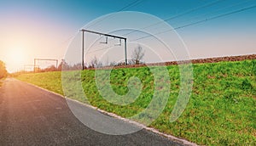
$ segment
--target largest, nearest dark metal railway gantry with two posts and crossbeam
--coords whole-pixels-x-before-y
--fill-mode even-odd
[[[84,70],[84,32],[89,32],[89,33],[94,33],[100,36],[106,36],[106,43],[108,43],[108,36],[113,37],[113,38],[119,38],[120,40],[125,40],[125,65],[128,65],[128,60],[127,60],[127,46],[126,46],[126,38],[122,36],[113,36],[110,34],[102,33],[102,32],[96,32],[96,31],[89,31],[89,30],[80,30],[83,33],[83,40],[82,40],[82,65],[83,65],[83,70]]]

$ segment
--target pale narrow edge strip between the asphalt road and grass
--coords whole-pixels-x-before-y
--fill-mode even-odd
[[[17,81],[20,81],[20,80],[18,80],[18,79],[16,79],[16,78],[13,78],[13,79],[15,79],[15,80],[17,80]],[[22,81],[22,82],[24,82],[24,83],[26,83],[26,84],[29,84],[29,85],[31,85],[31,86],[33,86],[33,87],[38,87],[37,85],[34,85],[34,84],[30,83],[30,82],[26,82],[26,81]],[[109,115],[109,116],[112,116],[113,118],[117,118],[117,119],[119,119],[119,120],[122,120],[122,121],[125,121],[125,122],[128,122],[128,123],[134,124],[134,125],[139,126],[139,127],[142,127],[143,129],[145,129],[145,130],[147,130],[147,131],[149,131],[149,132],[154,132],[154,133],[156,133],[156,134],[158,134],[158,135],[160,135],[160,136],[162,136],[162,137],[168,138],[168,139],[170,139],[170,140],[172,140],[172,141],[174,141],[174,142],[181,143],[181,144],[183,144],[183,145],[197,146],[196,143],[189,142],[188,140],[185,140],[185,139],[182,139],[182,138],[176,138],[176,137],[174,137],[174,136],[172,136],[172,135],[170,135],[170,134],[166,134],[166,133],[164,133],[164,132],[160,132],[160,131],[158,131],[157,129],[154,129],[153,127],[144,126],[143,124],[138,123],[137,121],[131,121],[131,120],[129,120],[129,119],[126,119],[126,118],[124,118],[124,117],[121,117],[121,116],[116,115],[116,114],[113,114],[113,113],[110,113],[110,112],[108,112],[108,111],[100,110],[100,109],[98,109],[98,108],[95,107],[95,106],[92,106],[92,105],[89,105],[89,104],[84,104],[84,103],[80,102],[79,100],[76,100],[76,99],[73,99],[73,98],[67,98],[67,97],[61,95],[60,93],[55,93],[55,92],[50,91],[50,90],[48,90],[48,89],[45,89],[45,88],[43,88],[43,87],[38,87],[38,88],[41,89],[41,90],[44,90],[45,92],[53,93],[53,94],[55,94],[56,96],[59,96],[59,97],[61,97],[61,98],[65,98],[66,100],[71,100],[71,101],[73,101],[73,102],[76,102],[77,104],[84,105],[84,106],[86,106],[86,107],[88,107],[88,108],[90,108],[90,109],[97,110],[98,112],[101,112],[101,113],[104,114],[104,115]]]

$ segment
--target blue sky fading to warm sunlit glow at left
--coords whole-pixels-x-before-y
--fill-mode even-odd
[[[143,24],[146,24],[144,22],[147,22],[146,16],[145,20],[142,19],[143,17],[137,20],[127,17],[127,21],[117,21],[117,18],[112,16],[95,25],[91,23],[93,20],[96,22],[96,19],[103,15],[119,11],[150,14],[157,19],[167,20],[167,25],[171,25],[172,28],[206,20],[197,25],[175,30],[185,44],[190,59],[252,54],[256,53],[256,8],[242,10],[218,19],[211,20],[211,18],[255,5],[255,0],[0,0],[0,60],[5,62],[9,72],[24,70],[24,65],[33,65],[34,59],[61,61],[65,59],[67,50],[71,49],[71,44],[80,45],[76,38],[78,37],[79,40],[79,30],[84,28],[84,25],[92,24],[92,26],[87,25],[90,26],[88,29],[91,31],[107,33],[111,31],[110,28],[114,29],[113,26],[127,25],[125,23],[129,22],[129,19],[130,22],[136,21],[134,23],[142,28]],[[111,19],[117,23],[111,24]],[[147,23],[149,24],[149,21]],[[155,25],[151,30],[157,33],[160,29],[160,25]],[[116,33],[113,31],[113,35],[124,34],[125,31]],[[143,36],[134,33],[127,36],[127,39],[129,41],[139,35]],[[98,39],[92,35],[90,37]],[[87,39],[87,43],[88,40],[93,39]],[[147,48],[148,44],[143,42],[144,48]],[[151,44],[151,48],[152,45],[154,44]],[[136,44],[131,44],[128,49],[132,50],[135,46]],[[155,46],[153,48],[154,52],[160,52],[160,48]],[[150,54],[150,51],[146,50],[145,53]],[[108,58],[112,58],[112,55],[113,53],[109,53]],[[123,53],[121,57],[124,58]],[[131,51],[128,57],[131,57]],[[92,56],[89,58],[91,59]],[[146,58],[146,61],[150,61],[151,57]]]

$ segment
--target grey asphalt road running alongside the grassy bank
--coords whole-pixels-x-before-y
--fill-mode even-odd
[[[96,132],[73,115],[65,98],[9,78],[0,87],[0,145],[180,144],[147,130],[117,136]]]

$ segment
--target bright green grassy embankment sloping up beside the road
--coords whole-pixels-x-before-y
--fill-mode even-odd
[[[193,67],[194,83],[189,104],[174,122],[169,118],[179,93],[179,70],[177,65],[167,67],[171,76],[170,98],[150,126],[198,144],[256,145],[256,60],[196,64]],[[78,74],[76,71],[70,73]],[[154,76],[147,67],[112,70],[110,82],[113,91],[121,95],[127,93],[127,81],[131,76],[137,76],[143,87],[137,100],[128,105],[110,104],[102,98],[96,88],[95,70],[84,70],[81,79],[90,104],[130,117],[146,108],[154,93]],[[17,78],[63,94],[61,72],[26,74]],[[76,85],[72,86],[76,88]],[[68,97],[75,97],[72,96],[76,94],[72,93],[75,90],[70,91]]]

